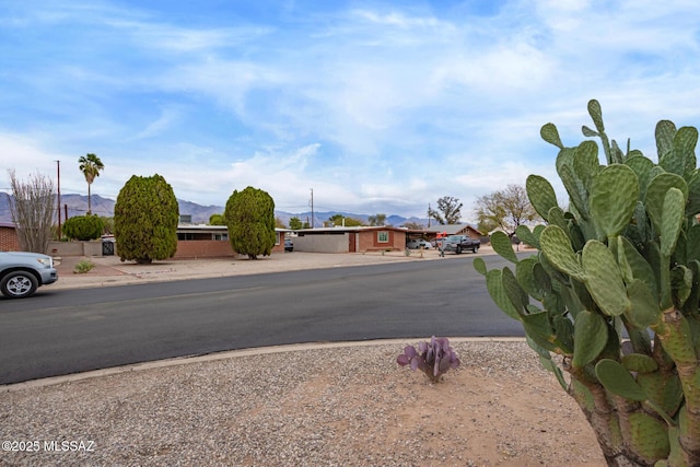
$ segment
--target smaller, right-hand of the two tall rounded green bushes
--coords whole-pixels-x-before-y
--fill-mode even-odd
[[[275,246],[275,201],[261,189],[247,187],[233,191],[224,219],[234,252],[257,259],[268,256]]]

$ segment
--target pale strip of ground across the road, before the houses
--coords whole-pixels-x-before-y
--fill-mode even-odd
[[[295,271],[351,266],[378,265],[399,261],[451,260],[493,254],[490,246],[482,246],[478,254],[446,254],[429,249],[419,252],[371,252],[371,253],[273,253],[271,256],[252,260],[246,256],[206,259],[168,259],[139,265],[121,262],[118,256],[62,257],[56,258],[58,282],[46,285],[51,289],[82,289],[93,287],[126,285],[186,279],[205,279],[242,275]],[[77,273],[80,261],[90,261],[94,267],[86,273]]]

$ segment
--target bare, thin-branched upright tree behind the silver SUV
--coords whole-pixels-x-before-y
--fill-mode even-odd
[[[54,182],[39,174],[19,180],[10,170],[13,199],[10,202],[12,221],[16,226],[20,248],[24,252],[46,253],[54,225]]]

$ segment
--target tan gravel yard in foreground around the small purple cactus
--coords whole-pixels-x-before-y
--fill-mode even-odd
[[[440,384],[396,363],[405,343],[417,342],[237,351],[4,387],[0,440],[37,451],[3,444],[0,465],[605,465],[523,341],[453,341],[463,364]]]

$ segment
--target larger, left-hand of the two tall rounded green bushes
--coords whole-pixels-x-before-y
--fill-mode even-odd
[[[133,175],[114,207],[119,258],[138,262],[171,258],[177,252],[179,209],[173,188],[161,175]]]

